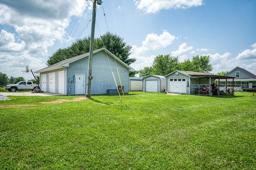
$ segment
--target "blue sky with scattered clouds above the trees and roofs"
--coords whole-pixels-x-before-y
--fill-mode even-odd
[[[92,0],[0,0],[0,72],[33,78],[58,49],[91,34]],[[158,55],[210,55],[212,74],[236,66],[256,74],[255,0],[102,0],[95,37],[131,45],[135,70]]]

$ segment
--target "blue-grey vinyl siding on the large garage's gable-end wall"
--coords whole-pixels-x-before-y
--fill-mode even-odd
[[[108,62],[109,61],[109,62]],[[111,65],[111,67],[110,67]],[[122,86],[124,86],[124,94],[128,94],[128,78],[129,69],[125,68],[118,61],[115,62],[114,58],[106,56],[104,51],[95,53],[92,57],[92,81],[91,81],[91,94],[107,94],[108,89],[116,89],[116,84],[112,71],[114,73],[117,86],[120,85],[119,77],[117,74],[116,65],[120,74]],[[88,74],[88,57],[75,61],[69,64],[67,68],[67,80],[73,78],[75,74],[84,74],[84,88],[87,91],[87,74]],[[71,82],[71,95],[75,94],[75,82]],[[67,87],[69,82],[67,81]]]

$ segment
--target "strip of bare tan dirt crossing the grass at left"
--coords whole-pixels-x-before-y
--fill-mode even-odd
[[[47,102],[39,102],[38,104],[2,105],[2,106],[0,106],[0,108],[32,107],[32,106],[39,106],[40,104],[59,104],[59,103],[64,103],[64,102],[79,102],[79,101],[86,100],[86,99],[88,99],[88,98],[86,98],[86,97],[78,97],[78,98],[74,98],[72,100],[58,99],[58,100],[47,101]]]

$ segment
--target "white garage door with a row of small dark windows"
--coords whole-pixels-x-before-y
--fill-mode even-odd
[[[185,93],[187,92],[187,81],[185,78],[171,78],[169,80],[169,92]]]

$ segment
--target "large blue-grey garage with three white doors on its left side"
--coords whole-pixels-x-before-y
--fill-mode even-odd
[[[36,71],[40,74],[42,91],[64,95],[86,94],[88,57],[89,53],[86,53]],[[124,87],[124,94],[128,94],[129,71],[134,69],[105,48],[93,51],[91,94],[108,94],[107,90],[115,90],[113,74],[117,86],[120,86],[116,67]]]

